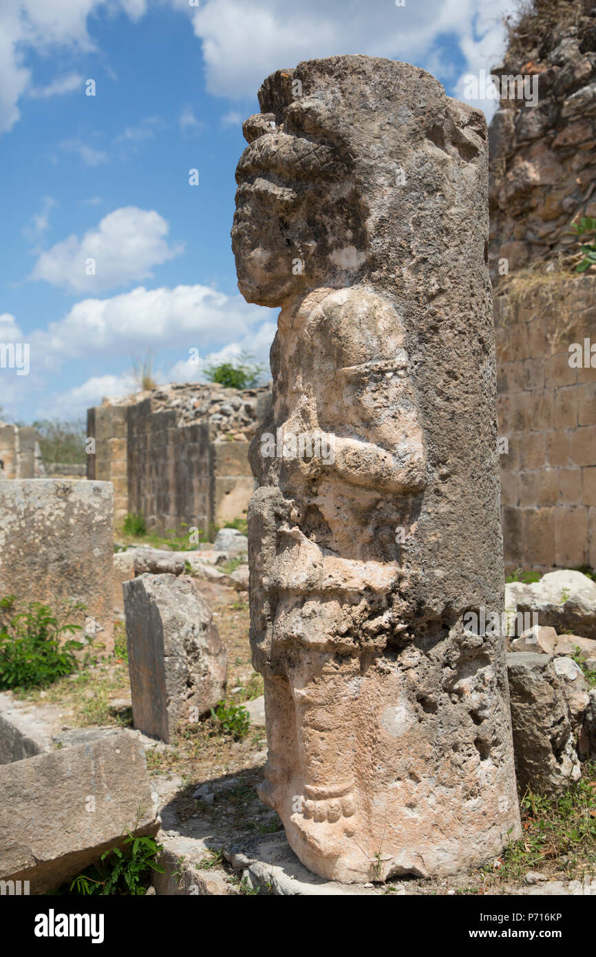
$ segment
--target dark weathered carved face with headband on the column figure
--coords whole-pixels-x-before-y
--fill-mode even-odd
[[[347,148],[328,139],[320,103],[296,100],[244,123],[232,249],[246,300],[276,306],[321,284],[354,281],[364,227]],[[336,137],[337,140],[337,137]]]

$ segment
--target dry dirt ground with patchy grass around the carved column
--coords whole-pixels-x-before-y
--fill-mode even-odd
[[[241,704],[262,694],[262,679],[251,664],[248,594],[216,582],[200,582],[228,652],[226,701]],[[114,655],[96,657],[76,674],[45,691],[18,697],[58,706],[63,729],[86,725],[132,727],[130,685],[123,624],[116,626]],[[207,718],[188,724],[170,745],[147,748],[147,768],[167,805],[169,818],[183,829],[216,834],[224,842],[247,833],[271,834],[281,829],[275,812],[256,795],[266,759],[264,728],[251,727],[234,740],[219,722]],[[214,801],[193,797],[208,783]],[[559,802],[520,795],[524,836],[504,854],[468,875],[453,879],[391,881],[380,893],[408,886],[416,894],[516,893],[525,875],[539,872],[550,880],[569,881],[596,872],[596,768],[584,769],[579,786]],[[173,816],[172,816],[173,815]],[[204,867],[221,867],[221,856],[207,854]],[[403,892],[403,891],[402,891]]]

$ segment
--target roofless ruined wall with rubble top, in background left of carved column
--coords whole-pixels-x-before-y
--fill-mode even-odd
[[[87,475],[114,483],[116,525],[130,512],[162,533],[207,531],[242,515],[254,491],[248,446],[270,400],[267,386],[187,383],[90,409]]]

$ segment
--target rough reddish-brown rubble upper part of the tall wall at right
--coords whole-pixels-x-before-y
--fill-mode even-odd
[[[538,80],[538,101],[500,100],[490,126],[491,265],[509,271],[578,250],[569,225],[596,216],[596,7],[546,33],[533,50],[510,47],[492,73]],[[530,88],[531,89],[531,88]]]

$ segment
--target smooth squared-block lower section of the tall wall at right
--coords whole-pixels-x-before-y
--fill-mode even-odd
[[[505,570],[596,567],[596,277],[513,280],[495,298]],[[591,337],[591,339],[590,339]]]

